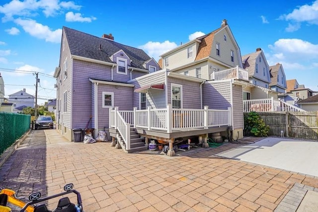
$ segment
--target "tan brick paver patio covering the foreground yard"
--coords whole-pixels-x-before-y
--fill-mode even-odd
[[[318,188],[314,176],[216,156],[239,145],[196,148],[175,157],[127,154],[108,142],[74,143],[55,130],[35,130],[0,168],[0,185],[27,197],[36,191],[53,195],[74,183],[87,212],[266,212],[282,200],[280,210],[300,202],[299,190],[291,190],[295,183],[302,190]],[[49,201],[51,209],[56,203]]]

